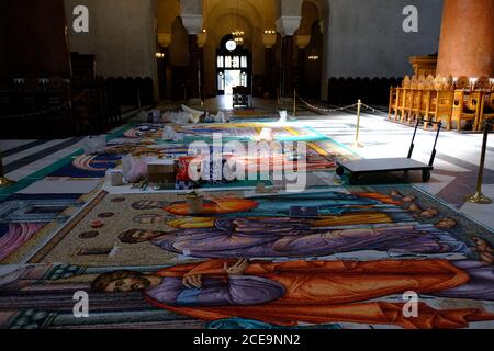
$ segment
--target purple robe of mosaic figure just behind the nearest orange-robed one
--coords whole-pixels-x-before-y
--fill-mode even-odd
[[[169,252],[210,258],[300,258],[375,250],[394,254],[471,253],[431,225],[329,230],[290,218],[217,219],[214,228],[184,229],[153,241]]]

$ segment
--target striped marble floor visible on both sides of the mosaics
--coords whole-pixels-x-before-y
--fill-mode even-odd
[[[276,113],[276,101],[255,99],[252,105],[262,114]],[[228,109],[229,103],[226,98],[210,99],[205,101],[204,106],[211,110]],[[413,128],[389,122],[380,112],[363,113],[360,143],[364,147],[353,148],[357,123],[355,111],[315,115],[301,109],[296,118],[352,148],[363,158],[405,157],[413,134]],[[435,133],[419,131],[414,159],[428,162],[434,139]],[[422,183],[420,174],[397,174],[397,177],[406,177],[406,181],[416,183],[420,189],[460,208],[476,222],[494,228],[494,205],[474,205],[464,201],[467,195],[475,191],[481,144],[481,134],[444,132],[437,145],[436,169],[429,183]],[[80,149],[81,138],[0,140],[0,148],[3,152],[7,177],[21,180]],[[372,182],[374,179],[367,181]],[[494,137],[489,140],[483,192],[494,199]]]

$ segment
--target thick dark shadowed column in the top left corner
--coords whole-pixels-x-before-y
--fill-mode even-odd
[[[0,3],[0,77],[69,77],[64,0]]]

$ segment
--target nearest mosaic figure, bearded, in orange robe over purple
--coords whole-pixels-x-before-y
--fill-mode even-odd
[[[494,299],[493,268],[476,261],[205,261],[150,274],[115,271],[100,275],[94,291],[143,291],[153,306],[202,320],[231,317],[274,325],[360,322],[404,328],[465,328],[494,320],[479,308],[438,309],[419,304],[406,318],[403,303],[386,297],[420,295]]]

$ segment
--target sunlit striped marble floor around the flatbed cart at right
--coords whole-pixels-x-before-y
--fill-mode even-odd
[[[300,120],[314,126],[333,139],[352,148],[363,158],[406,157],[413,136],[413,128],[388,121],[379,114],[363,114],[361,118],[360,143],[355,148],[356,122],[353,113],[334,113],[327,116],[300,116]],[[435,133],[419,131],[417,134],[414,159],[428,162],[433,150]],[[435,171],[428,183],[422,183],[420,173],[408,176],[406,180],[428,193],[437,195],[447,203],[460,208],[473,219],[494,228],[494,205],[474,205],[464,197],[475,192],[479,174],[481,134],[459,134],[444,132],[439,136]],[[494,137],[489,139],[484,170],[483,193],[494,199]]]

